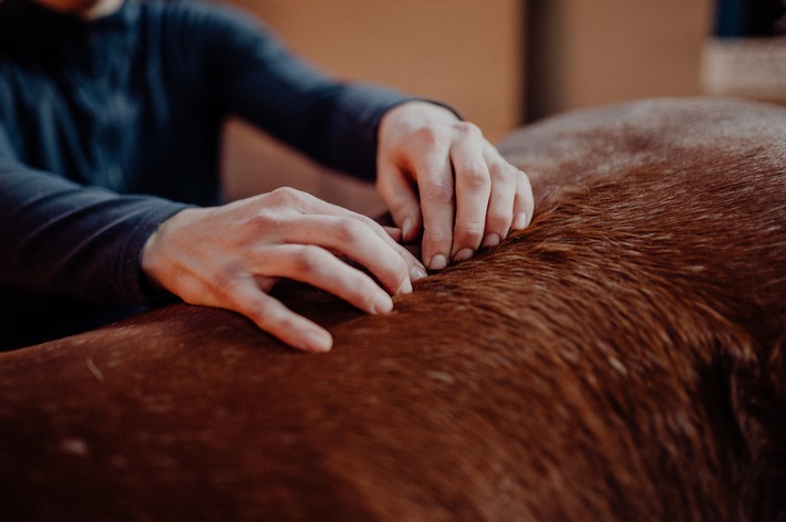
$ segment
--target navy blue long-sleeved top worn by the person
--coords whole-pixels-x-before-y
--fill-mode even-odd
[[[372,178],[379,121],[404,100],[328,79],[227,8],[127,0],[84,22],[3,0],[0,348],[156,297],[141,250],[184,206],[219,202],[227,116]]]

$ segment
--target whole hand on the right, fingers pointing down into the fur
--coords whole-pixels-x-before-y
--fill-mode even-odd
[[[423,231],[428,269],[494,247],[532,217],[527,175],[445,107],[406,102],[390,109],[380,123],[376,163],[378,191],[404,241]]]

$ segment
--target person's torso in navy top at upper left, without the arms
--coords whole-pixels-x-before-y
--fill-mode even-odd
[[[9,11],[0,123],[15,159],[117,192],[216,201],[221,115],[161,6],[128,3],[90,24],[33,4]]]

